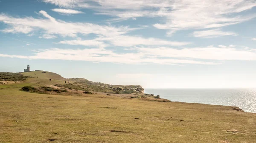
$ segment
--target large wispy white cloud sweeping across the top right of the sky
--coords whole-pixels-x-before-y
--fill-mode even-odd
[[[256,6],[255,0],[44,0],[61,7],[91,8],[96,14],[111,15],[113,20],[161,17],[154,24],[159,29],[219,28],[256,17],[240,12]],[[168,34],[167,34],[168,35]]]

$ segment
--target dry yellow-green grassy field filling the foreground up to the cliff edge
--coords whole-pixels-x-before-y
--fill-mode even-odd
[[[24,73],[32,76],[34,73]],[[143,101],[105,93],[37,94],[49,73],[0,85],[0,143],[255,143],[256,114],[232,107]],[[49,78],[56,78],[49,81]],[[48,81],[47,81],[48,79]]]

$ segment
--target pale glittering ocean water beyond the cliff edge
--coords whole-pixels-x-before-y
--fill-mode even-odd
[[[236,106],[256,113],[256,89],[145,89],[171,101]]]

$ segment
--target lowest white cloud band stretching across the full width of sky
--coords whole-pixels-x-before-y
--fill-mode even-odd
[[[256,61],[256,49],[216,48],[136,48],[133,53],[116,53],[104,48],[60,49],[34,51],[34,56],[6,55],[23,59],[59,59],[120,64],[221,64],[224,60]]]

